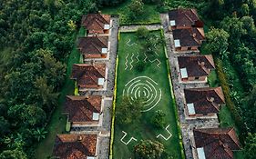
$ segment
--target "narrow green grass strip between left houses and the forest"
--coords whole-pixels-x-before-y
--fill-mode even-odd
[[[81,33],[81,31],[79,33]],[[66,95],[74,94],[75,82],[73,80],[70,80],[69,77],[71,75],[72,65],[79,63],[79,59],[80,59],[80,54],[77,51],[76,45],[74,45],[74,48],[71,54],[69,55],[68,61],[67,61],[66,82],[60,93],[60,96],[58,99],[58,106],[56,107],[56,110],[52,114],[50,122],[46,127],[46,131],[48,132],[46,139],[42,140],[36,147],[36,156],[35,156],[36,159],[46,159],[48,156],[52,154],[56,134],[67,134],[66,132],[67,116],[61,114],[63,109],[62,106],[65,102]]]

